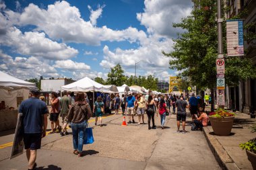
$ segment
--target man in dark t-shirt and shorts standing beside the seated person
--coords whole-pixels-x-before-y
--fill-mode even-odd
[[[180,133],[180,123],[182,121],[182,127],[183,127],[183,134],[186,133],[185,131],[185,122],[186,122],[186,108],[189,108],[189,105],[187,103],[187,101],[183,100],[183,96],[180,97],[180,99],[178,99],[176,101],[176,106],[177,106],[177,132]]]

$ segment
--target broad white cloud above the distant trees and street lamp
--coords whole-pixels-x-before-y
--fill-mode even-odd
[[[172,40],[166,39],[161,42],[156,37],[148,38],[150,43],[145,43],[137,49],[122,50],[116,48],[115,51],[110,51],[108,46],[104,46],[104,60],[100,65],[105,69],[114,67],[118,63],[124,69],[135,68],[135,62],[143,60],[137,64],[137,69],[155,70],[155,69],[168,69],[169,58],[162,54],[162,50],[168,52]]]

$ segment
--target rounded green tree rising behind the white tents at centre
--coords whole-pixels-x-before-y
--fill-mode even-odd
[[[117,64],[115,67],[111,67],[110,72],[108,73],[108,79],[106,79],[106,83],[108,85],[123,85],[123,83],[126,81],[126,77],[123,73],[124,71],[120,64]]]

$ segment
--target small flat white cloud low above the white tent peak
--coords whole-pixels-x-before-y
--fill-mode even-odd
[[[74,62],[73,60],[57,60],[54,67],[67,70],[90,70],[90,66],[84,62]]]

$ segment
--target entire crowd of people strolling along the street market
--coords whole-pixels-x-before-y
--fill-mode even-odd
[[[73,134],[73,153],[82,156],[84,136],[88,120],[95,114],[95,125],[100,121],[102,127],[102,114],[104,113],[104,102],[102,97],[97,97],[93,108],[90,108],[86,93],[78,92],[75,99],[71,97],[69,91],[63,91],[62,97],[56,92],[50,96],[50,111],[44,102],[44,97],[39,96],[40,91],[31,90],[31,97],[22,101],[19,112],[23,114],[24,122],[24,145],[28,158],[28,169],[36,167],[36,150],[41,146],[41,139],[46,135],[47,117],[51,121],[51,132],[60,132],[61,136],[67,135],[67,124],[71,126]],[[160,115],[160,127],[164,129],[166,116],[177,114],[177,132],[186,133],[185,122],[187,118],[186,108],[189,108],[192,121],[195,124],[195,130],[201,130],[207,126],[208,116],[204,109],[199,105],[200,100],[192,93],[189,102],[184,99],[183,94],[176,95],[154,95],[150,91],[145,94],[133,94],[131,91],[127,96],[119,94],[115,96],[114,110],[119,114],[122,108],[122,114],[128,116],[128,124],[135,124],[135,115],[138,118],[137,124],[145,124],[145,114],[148,116],[148,130],[156,129],[156,116]],[[171,111],[172,108],[172,111]],[[61,117],[62,127],[59,122]],[[182,130],[180,124],[182,122]],[[152,123],[152,124],[151,124]],[[152,126],[151,126],[152,125]]]

